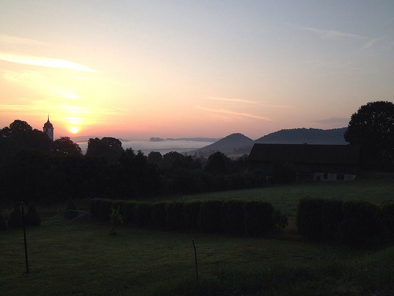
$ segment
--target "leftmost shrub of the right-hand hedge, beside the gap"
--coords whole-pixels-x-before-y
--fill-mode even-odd
[[[324,199],[300,198],[297,209],[297,227],[301,235],[308,239],[320,239],[323,231],[322,212]]]

